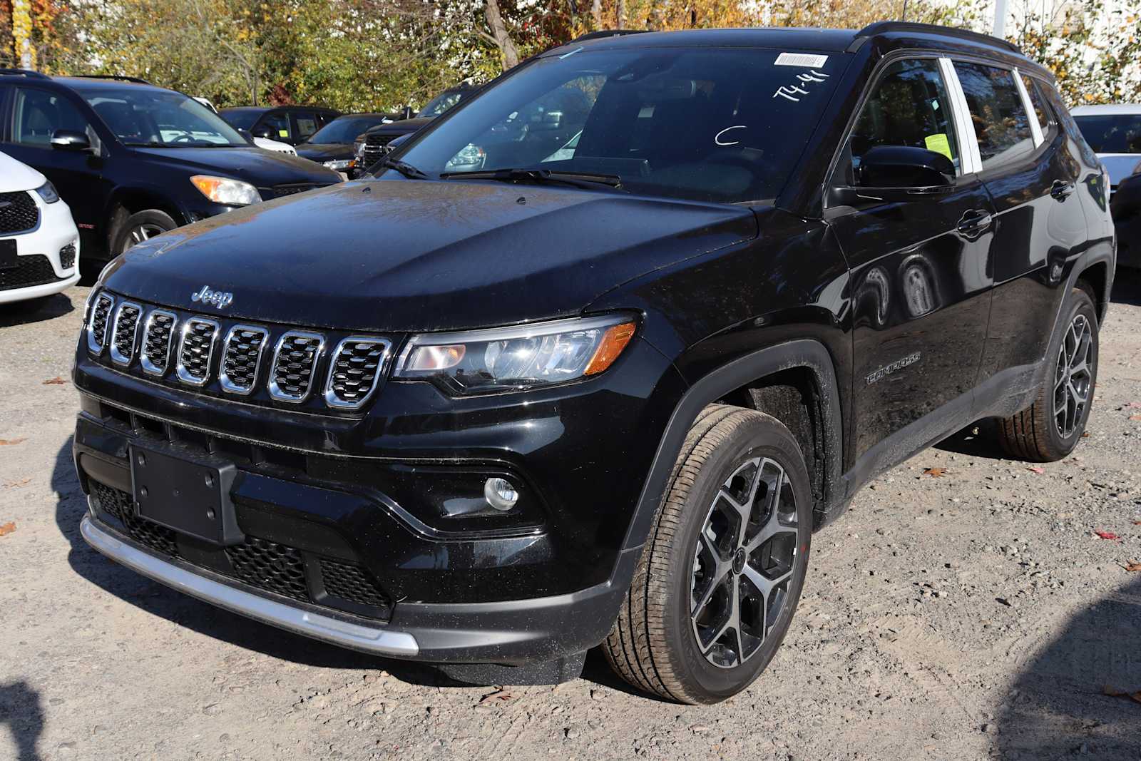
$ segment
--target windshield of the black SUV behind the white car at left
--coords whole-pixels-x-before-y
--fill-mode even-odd
[[[194,98],[171,90],[76,88],[127,145],[237,146],[245,139]]]

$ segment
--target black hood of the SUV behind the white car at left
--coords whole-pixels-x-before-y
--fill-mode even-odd
[[[146,154],[155,162],[191,169],[195,173],[219,172],[257,187],[305,183],[324,185],[341,179],[337,172],[316,165],[307,159],[264,151],[252,145],[226,148],[132,148],[132,151]]]

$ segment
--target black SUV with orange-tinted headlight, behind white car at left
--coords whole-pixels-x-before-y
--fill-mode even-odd
[[[0,151],[56,186],[84,259],[341,179],[253,147],[193,98],[122,76],[0,70]]]

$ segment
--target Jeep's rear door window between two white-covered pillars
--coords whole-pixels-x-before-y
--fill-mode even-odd
[[[1030,120],[1014,74],[1005,68],[955,62],[966,107],[979,141],[982,170],[994,169],[1034,151]]]

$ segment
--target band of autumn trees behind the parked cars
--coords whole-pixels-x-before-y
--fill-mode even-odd
[[[22,0],[37,65],[143,76],[219,106],[422,105],[527,56],[606,29],[859,29],[903,0]],[[1023,3],[1019,6],[1018,3]],[[1071,104],[1141,100],[1141,0],[1012,0],[1009,31]],[[909,21],[986,31],[988,3],[908,0]],[[17,24],[19,23],[18,19]],[[18,64],[13,0],[0,0],[0,65]]]

